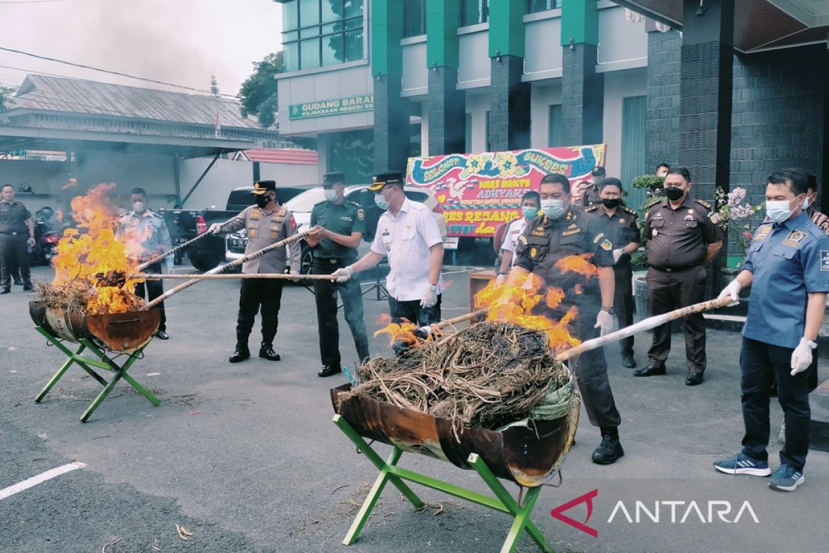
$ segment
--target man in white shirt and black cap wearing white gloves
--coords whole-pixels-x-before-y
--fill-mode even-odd
[[[395,323],[406,319],[420,326],[440,320],[440,295],[443,279],[444,241],[429,208],[411,201],[403,190],[403,175],[386,172],[375,175],[368,187],[375,202],[386,210],[377,221],[371,251],[355,263],[337,269],[337,282],[346,282],[355,273],[371,269],[389,258],[389,309]]]

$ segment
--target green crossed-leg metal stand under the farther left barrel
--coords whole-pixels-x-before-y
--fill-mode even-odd
[[[133,386],[133,388],[138,390],[138,392],[140,392],[141,395],[150,400],[150,402],[153,403],[153,405],[156,405],[158,407],[158,404],[160,402],[155,398],[155,396],[151,394],[149,390],[138,384],[138,382],[136,382],[132,376],[129,376],[127,374],[127,371],[129,371],[129,367],[133,366],[133,363],[135,361],[138,361],[138,356],[140,356],[141,352],[143,352],[143,347],[139,348],[136,352],[130,354],[127,359],[127,362],[125,362],[124,365],[119,366],[115,361],[107,357],[106,353],[101,351],[99,347],[95,346],[95,344],[93,344],[85,338],[80,339],[80,347],[78,348],[78,351],[72,352],[68,347],[65,347],[65,345],[59,338],[52,336],[51,333],[47,332],[46,329],[44,329],[43,327],[35,327],[35,330],[37,332],[40,332],[43,335],[43,337],[46,338],[46,340],[51,342],[53,346],[57,347],[59,350],[61,350],[61,352],[64,353],[66,357],[68,357],[66,362],[55,373],[55,376],[51,377],[51,379],[46,383],[46,386],[44,386],[43,390],[41,390],[41,393],[37,395],[37,397],[35,398],[35,403],[40,403],[41,400],[44,397],[46,397],[46,394],[49,393],[49,390],[52,389],[52,386],[55,386],[57,384],[57,381],[61,380],[61,376],[63,376],[66,370],[69,369],[70,366],[72,366],[72,363],[75,363],[78,366],[80,366],[80,368],[82,368],[84,371],[89,373],[89,375],[92,376],[96,381],[98,381],[101,386],[104,386],[104,390],[100,391],[95,400],[93,400],[92,403],[90,403],[90,406],[86,408],[84,414],[81,415],[80,422],[85,423],[86,420],[90,418],[90,415],[92,415],[92,413],[94,413],[95,410],[98,409],[98,405],[101,404],[101,401],[103,401],[106,398],[106,396],[109,395],[109,392],[112,391],[112,389],[115,387],[118,381],[122,378],[125,381],[127,381],[130,386]],[[97,359],[95,357],[87,357],[80,355],[82,352],[84,352],[84,350],[89,350],[90,352],[94,353]],[[92,370],[93,366],[99,369],[103,369],[104,371],[114,372],[115,376],[112,377],[111,381],[107,382],[106,380],[104,380],[104,377],[100,376],[97,372]]]

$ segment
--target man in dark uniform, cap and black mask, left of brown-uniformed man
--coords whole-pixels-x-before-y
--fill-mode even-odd
[[[630,255],[639,248],[639,226],[636,211],[621,205],[622,181],[607,177],[602,181],[599,191],[601,203],[589,207],[588,213],[599,217],[602,232],[613,244],[613,274],[616,287],[613,295],[613,311],[619,328],[633,324],[633,267]],[[628,368],[636,366],[633,361],[633,336],[623,338],[622,365]]]

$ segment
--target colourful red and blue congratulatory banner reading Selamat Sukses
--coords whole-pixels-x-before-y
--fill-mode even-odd
[[[521,216],[521,196],[537,191],[548,173],[565,174],[578,200],[593,167],[604,165],[605,148],[595,144],[409,158],[406,180],[434,190],[448,235],[492,237],[498,226]]]

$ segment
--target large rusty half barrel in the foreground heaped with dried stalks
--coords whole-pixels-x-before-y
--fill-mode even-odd
[[[478,454],[498,478],[526,488],[541,486],[555,473],[573,444],[579,424],[579,402],[570,415],[556,420],[534,420],[528,427],[513,426],[501,432],[463,428],[458,439],[452,421],[401,409],[366,397],[342,397],[351,385],[331,390],[334,411],[364,438],[411,453],[443,459],[459,468],[469,454]]]

